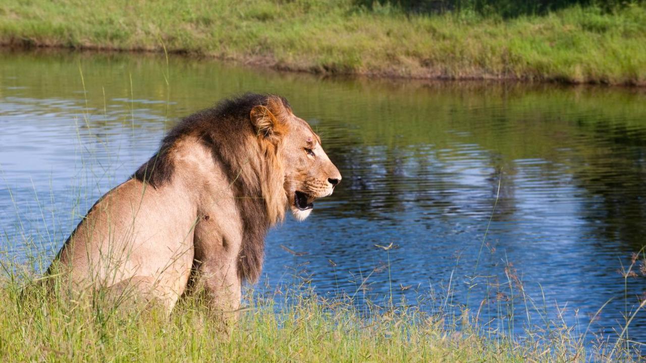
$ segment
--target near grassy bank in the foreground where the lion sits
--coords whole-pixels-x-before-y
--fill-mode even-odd
[[[62,291],[62,290],[61,290]],[[566,326],[509,338],[470,319],[406,304],[326,300],[296,290],[256,296],[230,333],[195,300],[160,309],[108,307],[101,295],[68,299],[31,279],[3,278],[3,362],[634,362],[622,345],[585,349]],[[368,310],[366,310],[368,309]]]

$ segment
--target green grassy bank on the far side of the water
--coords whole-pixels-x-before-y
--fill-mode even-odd
[[[646,85],[646,4],[503,19],[350,0],[7,0],[0,5],[0,43],[165,47],[307,72]]]

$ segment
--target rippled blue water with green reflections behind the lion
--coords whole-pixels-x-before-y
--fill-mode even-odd
[[[558,306],[585,329],[614,298],[591,329],[612,335],[623,322],[619,271],[646,244],[644,90],[324,79],[172,57],[5,51],[3,249],[19,260],[52,256],[178,118],[247,90],[286,96],[343,174],[306,222],[271,231],[269,285],[413,302],[450,291],[447,306],[466,303],[473,285],[469,305],[485,301],[492,329],[505,327],[496,310],[517,296],[519,331],[532,306],[507,270],[549,318]],[[630,311],[646,278],[628,289]],[[646,313],[632,327],[646,342]]]

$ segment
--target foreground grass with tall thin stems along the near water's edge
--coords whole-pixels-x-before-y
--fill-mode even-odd
[[[307,278],[293,276],[286,284],[245,291],[240,320],[225,327],[192,296],[167,315],[154,304],[130,304],[132,290],[121,296],[72,292],[59,276],[37,272],[49,264],[48,257],[15,261],[10,253],[0,257],[3,362],[632,363],[644,357],[643,344],[630,340],[635,329],[630,323],[646,299],[638,306],[631,302],[616,334],[596,335],[590,326],[565,323],[561,313],[567,304],[550,317],[545,301],[525,295],[511,266],[501,282],[509,295],[495,282],[489,286],[492,296],[479,306],[453,302],[450,284],[448,291],[418,290],[415,301],[395,301],[392,291],[390,297],[359,301],[356,293],[319,296]],[[645,265],[641,249],[621,273],[625,279],[646,276]],[[633,296],[625,298],[628,303]],[[525,304],[528,318],[537,313],[537,322],[516,318],[514,304]],[[497,313],[483,318],[481,311],[488,309]],[[514,324],[522,324],[524,332]]]

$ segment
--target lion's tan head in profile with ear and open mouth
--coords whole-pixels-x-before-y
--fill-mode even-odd
[[[283,200],[297,220],[304,220],[314,200],[331,195],[339,184],[339,169],[329,160],[318,135],[293,114],[284,99],[269,96],[266,105],[253,107],[250,116],[260,142],[276,154],[276,166],[284,176]]]

